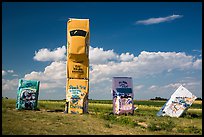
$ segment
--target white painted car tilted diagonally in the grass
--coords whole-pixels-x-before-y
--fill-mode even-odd
[[[196,98],[195,95],[181,85],[159,110],[157,116],[180,117]]]

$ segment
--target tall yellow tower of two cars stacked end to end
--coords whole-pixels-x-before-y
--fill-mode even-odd
[[[67,22],[67,82],[65,113],[88,112],[89,19]]]

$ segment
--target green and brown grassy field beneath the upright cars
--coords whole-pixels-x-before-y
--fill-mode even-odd
[[[2,99],[3,135],[202,135],[202,101],[179,118],[157,117],[166,101],[135,100],[134,115],[113,115],[111,100],[90,100],[88,114],[64,114],[65,101],[39,100],[38,110],[16,110]]]

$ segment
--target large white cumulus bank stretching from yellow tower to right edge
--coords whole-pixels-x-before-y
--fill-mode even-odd
[[[187,56],[181,52],[147,52],[142,51],[138,57],[131,57],[127,62],[114,53],[116,62],[107,62],[106,64],[92,64],[90,71],[90,80],[93,83],[110,80],[113,76],[132,76],[135,78],[146,75],[155,75],[164,71],[200,69],[199,60],[193,61],[192,56]],[[98,59],[99,60],[99,59]],[[97,61],[97,60],[95,60]],[[196,66],[196,67],[195,67]]]

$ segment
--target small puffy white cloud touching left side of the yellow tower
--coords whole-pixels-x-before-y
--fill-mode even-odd
[[[66,47],[62,46],[53,51],[50,51],[47,48],[40,49],[38,52],[35,52],[34,60],[37,61],[60,61],[66,59]]]

